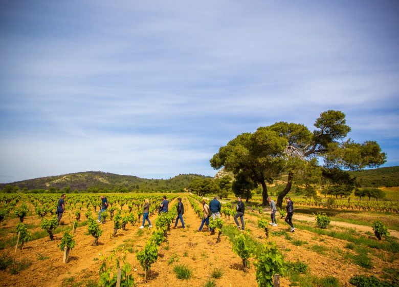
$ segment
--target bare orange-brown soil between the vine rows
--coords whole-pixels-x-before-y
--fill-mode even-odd
[[[173,202],[172,202],[173,203]],[[1,286],[61,286],[63,280],[74,277],[73,282],[82,282],[86,280],[98,281],[98,270],[101,265],[101,254],[109,256],[115,247],[124,245],[130,247],[134,252],[127,253],[127,260],[132,265],[133,276],[137,286],[203,286],[210,278],[211,272],[217,268],[223,271],[221,278],[216,279],[217,286],[227,287],[254,287],[257,286],[255,279],[255,268],[251,267],[249,272],[245,273],[242,269],[241,259],[232,251],[232,243],[227,236],[221,236],[221,242],[216,243],[217,235],[210,235],[207,228],[198,232],[201,219],[197,217],[190,206],[189,201],[184,197],[185,207],[184,221],[186,229],[182,229],[179,222],[178,228],[172,228],[168,232],[167,242],[163,242],[159,249],[159,258],[151,266],[148,274],[148,281],[144,282],[144,273],[136,260],[136,252],[141,250],[151,232],[148,227],[139,229],[140,223],[136,226],[128,224],[126,231],[118,231],[114,238],[110,238],[113,231],[113,221],[108,220],[102,224],[103,234],[100,237],[100,244],[97,247],[91,246],[93,238],[85,235],[87,227],[83,226],[76,230],[74,238],[76,247],[71,252],[70,262],[62,263],[63,252],[58,248],[62,234],[55,235],[55,240],[50,241],[49,237],[30,241],[25,244],[23,251],[14,252],[14,248],[8,248],[0,254],[9,253],[17,261],[32,261],[29,268],[21,271],[19,274],[11,275],[9,272],[0,271]],[[264,212],[263,217],[269,218],[269,212]],[[156,216],[151,216],[153,220]],[[375,251],[372,256],[374,268],[365,270],[356,264],[345,260],[338,250],[344,250],[348,243],[344,240],[331,238],[324,235],[317,235],[306,230],[296,229],[295,233],[290,233],[292,240],[287,240],[284,236],[274,236],[271,233],[269,239],[264,238],[264,231],[257,228],[258,215],[252,212],[246,212],[246,230],[251,232],[251,236],[257,238],[259,242],[267,240],[275,241],[285,255],[287,261],[296,261],[299,259],[309,265],[312,275],[323,277],[327,275],[339,279],[342,286],[350,285],[348,280],[353,275],[381,275],[381,267],[399,269],[397,258],[389,263],[380,259],[381,256],[374,256],[384,251]],[[295,215],[293,220],[300,219],[301,216]],[[223,218],[225,224],[234,224],[232,218],[228,220]],[[312,218],[308,218],[313,220]],[[17,220],[17,219],[15,219]],[[70,212],[64,215],[63,220],[66,223],[72,222],[73,215]],[[302,219],[301,219],[302,220]],[[14,222],[9,224],[16,224]],[[27,218],[28,223],[39,222],[37,216]],[[340,222],[343,223],[343,222]],[[349,224],[349,223],[345,223]],[[350,224],[353,226],[355,224]],[[2,227],[2,228],[6,228]],[[15,226],[15,225],[14,225]],[[363,226],[356,226],[356,229],[363,231]],[[287,224],[278,219],[278,226],[270,228],[271,231],[286,231]],[[262,237],[263,236],[263,237]],[[258,238],[259,237],[259,238]],[[294,240],[306,242],[300,246],[294,245]],[[324,254],[319,254],[312,250],[314,245],[322,245]],[[389,256],[389,254],[385,254]],[[44,258],[44,259],[43,259]],[[174,258],[174,260],[172,260]],[[173,262],[172,262],[173,261]],[[177,279],[173,272],[176,264],[185,264],[192,270],[192,277],[188,280]],[[290,281],[286,277],[281,278],[281,286],[289,286]],[[64,286],[68,284],[64,283]],[[72,283],[71,283],[72,285]],[[83,285],[84,286],[84,285]]]

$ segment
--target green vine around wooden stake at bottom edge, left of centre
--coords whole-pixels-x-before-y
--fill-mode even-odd
[[[126,253],[123,256],[123,264],[120,264],[120,258],[116,253],[108,258],[102,258],[102,264],[99,270],[100,280],[98,282],[101,287],[113,287],[117,283],[118,269],[121,269],[121,287],[131,287],[135,285],[135,280],[131,272],[131,265],[127,262]]]

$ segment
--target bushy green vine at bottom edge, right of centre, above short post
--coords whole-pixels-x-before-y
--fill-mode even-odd
[[[285,273],[285,262],[276,244],[263,245],[256,255],[256,281],[259,287],[273,287],[273,275]]]

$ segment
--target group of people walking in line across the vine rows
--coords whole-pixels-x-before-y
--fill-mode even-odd
[[[101,210],[98,213],[98,222],[101,222],[101,213],[106,211],[108,208],[108,200],[105,196],[101,196]],[[162,202],[159,205],[159,210],[158,212],[169,212],[169,201],[166,199],[166,196],[164,195],[162,198]],[[272,219],[272,222],[269,224],[271,226],[277,226],[277,220],[276,220],[276,203],[274,202],[273,199],[268,197],[268,202],[270,203],[270,217]],[[239,230],[244,230],[245,229],[245,221],[244,221],[244,213],[245,213],[245,204],[242,202],[241,197],[237,197],[237,205],[236,205],[236,214],[234,215],[234,222],[237,224],[237,228]],[[287,222],[291,226],[291,232],[294,232],[295,227],[292,224],[292,216],[294,214],[294,202],[291,200],[290,197],[285,197],[285,202],[287,203],[286,210],[287,214],[285,216],[285,222]],[[219,197],[215,196],[210,202],[209,205],[206,203],[205,200],[202,200],[202,206],[203,206],[203,219],[201,222],[201,226],[198,229],[198,231],[202,231],[204,224],[207,223],[209,226],[209,217],[212,216],[213,219],[220,218],[220,210],[221,210],[221,204],[219,201]],[[143,206],[143,224],[140,226],[140,228],[144,228],[145,221],[148,221],[148,227],[151,228],[151,222],[149,220],[149,207],[150,203],[148,199],[145,199],[144,201],[144,206]],[[56,214],[58,215],[58,224],[62,218],[62,214],[65,213],[65,194],[61,195],[61,198],[58,200],[58,207]],[[182,227],[183,229],[186,229],[184,225],[184,220],[183,220],[183,214],[184,214],[184,205],[182,203],[182,198],[178,198],[178,215],[175,219],[174,223],[174,228],[178,226],[179,219],[182,222]],[[240,222],[238,222],[238,218],[240,218]],[[240,225],[241,223],[241,225]],[[212,231],[211,228],[209,228],[209,231]]]

